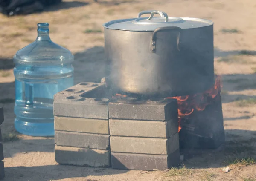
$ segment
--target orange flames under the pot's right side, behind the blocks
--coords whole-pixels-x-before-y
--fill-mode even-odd
[[[168,97],[167,99],[177,99],[178,101],[178,118],[179,118],[179,130],[181,129],[181,119],[185,116],[191,115],[195,110],[203,111],[205,107],[211,104],[212,100],[221,91],[221,76],[216,75],[215,84],[211,89],[198,93],[195,95],[186,95],[178,97]]]

